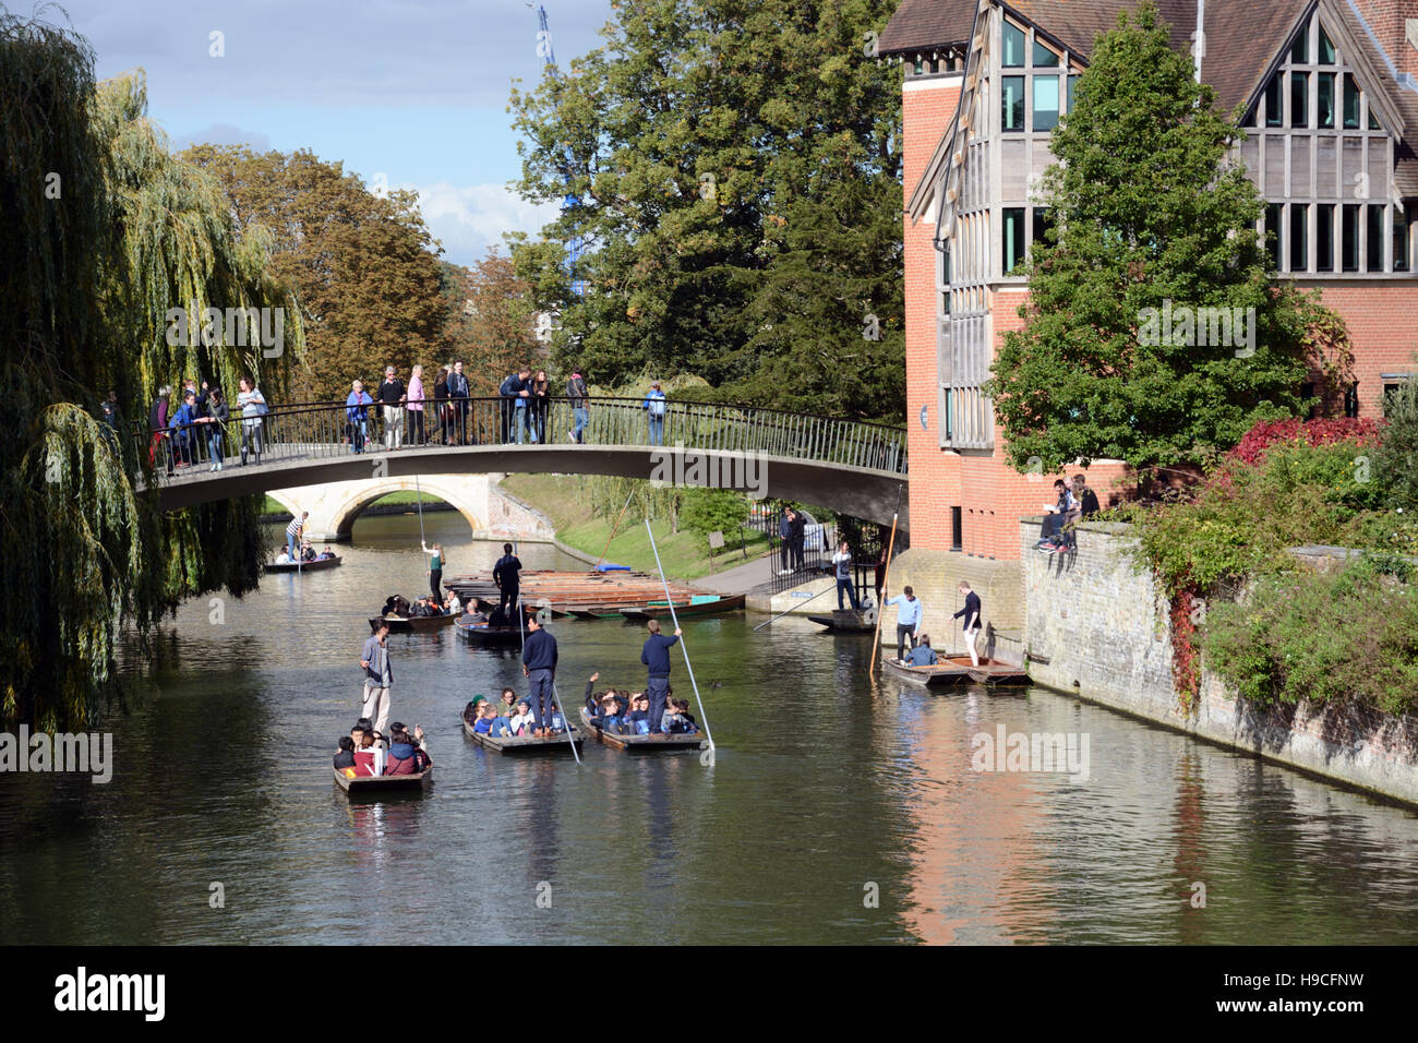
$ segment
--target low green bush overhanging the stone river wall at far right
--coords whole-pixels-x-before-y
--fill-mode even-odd
[[[1418,705],[1418,587],[1411,569],[1366,558],[1341,572],[1262,579],[1244,603],[1217,605],[1208,666],[1258,705]]]

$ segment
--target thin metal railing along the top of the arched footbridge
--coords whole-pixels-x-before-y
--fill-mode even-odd
[[[268,464],[372,453],[396,441],[404,447],[569,444],[577,429],[586,444],[683,446],[906,473],[906,431],[886,424],[672,399],[664,400],[664,416],[654,416],[644,399],[593,397],[584,414],[571,399],[530,400],[525,407],[516,402],[428,400],[421,419],[418,410],[403,409],[397,427],[386,424],[379,403],[353,410],[343,402],[298,403],[261,417],[233,416],[225,423],[139,431],[138,437],[159,470],[177,475],[242,454],[247,463]]]

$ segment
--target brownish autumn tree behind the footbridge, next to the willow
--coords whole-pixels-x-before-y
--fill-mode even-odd
[[[298,399],[343,400],[353,380],[377,382],[386,365],[407,379],[415,362],[444,353],[440,247],[415,193],[376,194],[308,150],[194,145],[183,158],[221,182],[238,227],[275,237],[272,272],[296,287],[306,321]]]

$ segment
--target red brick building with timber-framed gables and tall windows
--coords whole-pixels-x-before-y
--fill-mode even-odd
[[[1017,265],[1046,221],[1034,186],[1052,162],[1049,132],[1096,37],[1136,6],[902,0],[879,40],[905,71],[912,549],[892,587],[917,576],[930,607],[967,578],[1005,634],[1021,619],[1018,518],[1041,512],[1058,475],[1004,461],[980,386],[1021,324]],[[1320,288],[1349,325],[1341,407],[1381,416],[1385,389],[1418,373],[1418,0],[1157,6],[1222,111],[1245,108],[1238,158],[1266,200],[1276,271]],[[1105,504],[1123,473],[1117,461],[1089,470]]]

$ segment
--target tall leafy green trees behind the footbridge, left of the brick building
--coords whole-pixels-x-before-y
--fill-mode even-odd
[[[899,81],[864,47],[893,7],[615,4],[605,47],[513,91],[522,194],[579,200],[513,243],[560,314],[554,358],[603,385],[689,372],[718,397],[899,419]]]

